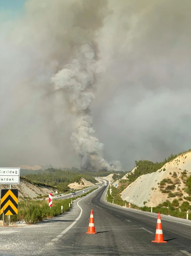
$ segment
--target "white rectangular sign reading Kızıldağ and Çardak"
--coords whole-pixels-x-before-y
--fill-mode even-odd
[[[0,167],[0,184],[19,184],[20,168]]]

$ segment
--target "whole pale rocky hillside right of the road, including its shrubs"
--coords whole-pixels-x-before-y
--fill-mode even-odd
[[[167,162],[157,172],[138,177],[121,193],[121,198],[138,206],[157,206],[174,198],[184,201],[187,177],[191,175],[191,152]],[[128,179],[128,175],[127,175]]]

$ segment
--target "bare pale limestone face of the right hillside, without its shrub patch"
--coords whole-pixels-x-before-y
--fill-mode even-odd
[[[166,169],[165,171],[163,171],[164,168]],[[172,175],[170,174],[173,172],[177,173],[177,176],[180,178],[181,171],[183,170],[187,170],[188,176],[191,174],[191,152],[178,156],[165,164],[157,172],[138,177],[132,184],[123,190],[121,198],[138,206],[143,206],[144,201],[147,202],[147,206],[157,206],[167,199],[167,194],[162,194],[160,192],[158,183],[164,178],[171,178],[173,180],[171,177]],[[177,186],[178,185],[176,185],[176,187]],[[181,181],[180,188],[183,188],[184,186],[185,185]],[[188,196],[186,193],[182,193],[185,196]],[[174,198],[168,199],[173,200]]]

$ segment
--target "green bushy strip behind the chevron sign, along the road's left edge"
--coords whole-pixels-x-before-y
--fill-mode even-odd
[[[91,193],[97,188],[91,189],[89,192],[84,193],[81,196],[76,196],[75,198],[63,199],[63,200],[52,200],[52,207],[48,206],[48,200],[23,200],[18,203],[18,214],[11,215],[10,221],[17,222],[24,220],[27,224],[34,224],[36,222],[42,221],[47,218],[56,217],[60,215],[61,206],[63,206],[63,213],[70,210],[69,203],[71,199],[76,200],[79,197],[83,197]],[[0,220],[2,220],[2,214],[0,215]],[[7,216],[5,216],[5,221],[7,221]]]

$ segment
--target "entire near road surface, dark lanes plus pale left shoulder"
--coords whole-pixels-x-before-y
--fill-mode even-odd
[[[102,186],[75,200],[72,209],[59,217],[24,228],[2,228],[0,255],[191,256],[191,221],[161,215],[168,242],[153,243],[157,214],[106,202],[107,188]],[[91,209],[95,235],[86,234]]]

